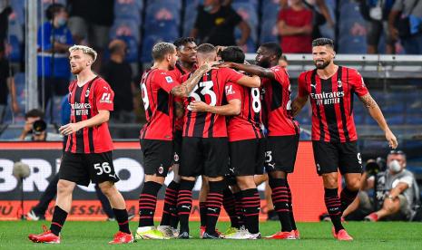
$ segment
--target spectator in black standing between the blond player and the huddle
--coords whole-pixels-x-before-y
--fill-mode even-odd
[[[131,65],[124,61],[127,45],[123,40],[115,39],[109,44],[110,62],[104,63],[101,71],[103,79],[109,82],[114,90],[114,111],[111,122],[134,122],[133,93]]]

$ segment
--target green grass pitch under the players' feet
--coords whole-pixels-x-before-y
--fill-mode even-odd
[[[49,222],[0,221],[0,249],[113,249],[137,248],[162,249],[422,249],[422,223],[348,222],[345,227],[355,238],[353,242],[339,242],[330,233],[331,224],[299,223],[300,240],[202,240],[199,239],[199,224],[191,222],[191,240],[140,240],[131,245],[107,245],[117,230],[115,222],[74,222],[68,221],[62,231],[62,244],[34,244],[28,240],[31,233],[40,233],[42,225]],[[157,224],[157,223],[156,223]],[[137,223],[131,223],[132,231]],[[219,223],[223,231],[228,223]],[[260,224],[262,236],[269,236],[280,230],[278,222]]]

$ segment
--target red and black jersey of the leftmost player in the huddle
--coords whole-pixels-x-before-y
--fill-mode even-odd
[[[168,72],[151,69],[142,74],[141,92],[146,123],[140,132],[141,139],[173,139],[172,88],[180,83]]]

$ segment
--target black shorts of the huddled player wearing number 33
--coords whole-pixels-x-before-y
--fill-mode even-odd
[[[223,177],[229,172],[229,141],[222,138],[183,137],[179,175]]]

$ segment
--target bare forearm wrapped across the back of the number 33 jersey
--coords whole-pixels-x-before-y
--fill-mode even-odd
[[[192,101],[189,104],[189,108],[191,111],[211,112],[218,115],[232,116],[240,114],[241,101],[239,99],[233,99],[228,102],[229,104],[222,106],[210,106],[203,101]]]

